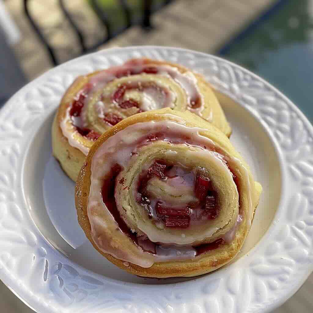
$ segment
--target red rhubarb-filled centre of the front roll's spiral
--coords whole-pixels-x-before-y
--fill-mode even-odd
[[[163,200],[158,190],[174,194]],[[187,202],[182,203],[184,195]],[[208,219],[217,218],[220,212],[218,193],[210,178],[201,174],[201,168],[183,168],[163,160],[156,160],[139,177],[137,201],[150,218],[162,220],[164,226],[170,228],[205,223]]]

